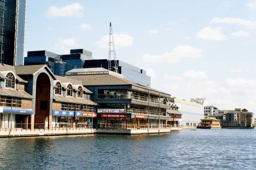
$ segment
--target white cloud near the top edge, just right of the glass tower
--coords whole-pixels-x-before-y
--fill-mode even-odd
[[[81,17],[83,10],[83,6],[79,3],[74,3],[67,5],[65,7],[50,7],[47,11],[48,16],[57,17],[57,16],[76,16]]]

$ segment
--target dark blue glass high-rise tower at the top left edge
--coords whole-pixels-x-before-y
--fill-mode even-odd
[[[26,0],[0,0],[0,62],[23,65]]]

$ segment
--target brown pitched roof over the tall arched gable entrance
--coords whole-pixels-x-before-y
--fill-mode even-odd
[[[52,70],[47,65],[21,65],[21,66],[14,66],[17,75],[35,75],[40,70],[46,68],[49,73],[52,75],[54,79],[56,79],[55,75],[53,74]]]

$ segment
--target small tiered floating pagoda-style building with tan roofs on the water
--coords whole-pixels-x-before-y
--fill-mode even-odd
[[[197,128],[200,129],[220,129],[221,120],[215,117],[205,117],[201,119],[201,123],[198,124]]]

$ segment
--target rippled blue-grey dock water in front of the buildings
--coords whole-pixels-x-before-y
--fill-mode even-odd
[[[1,138],[0,169],[256,169],[256,130]]]

